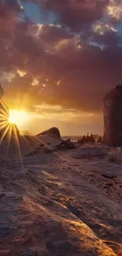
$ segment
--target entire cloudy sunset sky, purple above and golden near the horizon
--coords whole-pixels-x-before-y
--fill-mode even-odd
[[[102,98],[122,83],[121,0],[1,0],[0,80],[21,129],[102,134]]]

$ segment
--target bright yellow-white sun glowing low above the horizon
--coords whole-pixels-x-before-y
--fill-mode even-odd
[[[29,119],[29,114],[26,111],[9,110],[9,123],[22,125]]]

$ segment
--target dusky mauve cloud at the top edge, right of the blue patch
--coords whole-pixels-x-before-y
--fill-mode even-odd
[[[53,10],[59,15],[61,23],[74,30],[84,24],[91,24],[103,17],[109,0],[42,0],[44,9]]]

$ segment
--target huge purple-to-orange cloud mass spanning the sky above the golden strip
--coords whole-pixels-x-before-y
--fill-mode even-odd
[[[9,106],[46,103],[100,112],[102,97],[122,80],[120,35],[110,20],[100,20],[110,1],[41,1],[68,29],[31,24],[19,2],[8,2],[0,3],[0,73],[11,74],[5,83]]]

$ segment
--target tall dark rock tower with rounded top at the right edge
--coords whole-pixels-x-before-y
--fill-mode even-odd
[[[103,142],[109,146],[122,146],[122,85],[117,85],[103,100]]]

